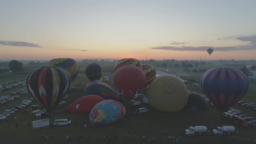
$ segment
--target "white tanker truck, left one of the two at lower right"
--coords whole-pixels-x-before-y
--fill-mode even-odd
[[[185,130],[185,134],[187,136],[192,136],[192,135],[209,135],[210,131],[207,129],[206,126],[195,126],[195,127],[189,127],[187,130]]]

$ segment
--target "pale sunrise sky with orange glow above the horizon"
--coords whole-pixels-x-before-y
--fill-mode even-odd
[[[0,60],[55,58],[256,60],[256,0],[0,0]]]

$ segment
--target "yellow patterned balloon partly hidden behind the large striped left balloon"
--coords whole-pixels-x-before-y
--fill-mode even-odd
[[[50,60],[47,63],[47,66],[56,66],[66,70],[70,74],[72,82],[76,78],[79,70],[78,63],[75,60],[70,58],[60,58],[60,59]]]

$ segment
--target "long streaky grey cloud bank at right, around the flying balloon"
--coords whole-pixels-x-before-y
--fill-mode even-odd
[[[214,49],[214,51],[230,51],[230,50],[252,50],[256,49],[256,35],[251,36],[244,36],[244,35],[238,35],[238,36],[229,36],[229,37],[221,37],[217,40],[239,40],[248,42],[247,45],[242,46],[234,46],[234,47],[171,47],[171,46],[162,46],[162,47],[156,47],[151,49],[162,49],[162,50],[178,50],[178,51],[206,51],[208,48]],[[183,43],[171,43],[173,45],[183,44]]]

